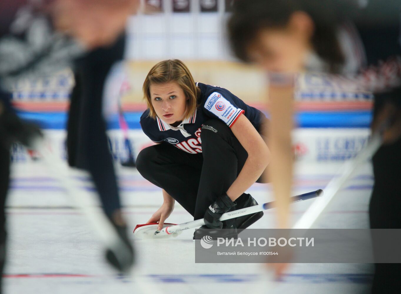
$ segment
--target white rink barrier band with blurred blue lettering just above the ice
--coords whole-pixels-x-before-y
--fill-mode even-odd
[[[65,159],[65,129],[45,129],[44,132],[51,139],[59,156]],[[302,163],[343,162],[353,158],[365,146],[369,134],[368,128],[299,128],[293,132],[294,158]],[[107,135],[115,162],[126,161],[128,149],[122,131],[111,129]],[[142,149],[154,145],[141,129],[131,129],[128,137],[134,157]],[[34,160],[22,145],[12,145],[11,151],[13,162],[26,163]]]

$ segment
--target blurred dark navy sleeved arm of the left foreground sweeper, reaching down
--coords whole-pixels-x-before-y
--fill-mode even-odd
[[[69,165],[90,173],[108,217],[121,204],[102,115],[103,87],[111,66],[123,58],[124,47],[125,39],[120,37],[112,46],[96,49],[75,62],[67,126]]]

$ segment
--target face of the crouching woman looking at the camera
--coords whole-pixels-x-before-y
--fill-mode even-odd
[[[160,119],[170,125],[184,119],[188,98],[176,82],[150,84],[149,90],[152,106]]]

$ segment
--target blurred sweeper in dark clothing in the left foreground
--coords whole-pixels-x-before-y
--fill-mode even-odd
[[[36,137],[41,136],[36,126],[16,115],[10,102],[10,89],[20,79],[49,75],[67,66],[73,66],[77,78],[70,121],[79,121],[74,126],[69,125],[69,164],[91,173],[103,209],[122,238],[126,252],[129,252],[121,256],[120,252],[107,250],[108,261],[122,271],[133,264],[134,252],[125,232],[126,224],[120,211],[117,183],[101,117],[101,93],[109,68],[115,60],[122,58],[126,20],[136,12],[138,4],[139,0],[0,2],[1,272],[5,255],[4,201],[10,176],[10,145],[19,142],[29,147]],[[96,161],[93,153],[99,155]],[[109,176],[102,185],[99,184],[99,171]]]

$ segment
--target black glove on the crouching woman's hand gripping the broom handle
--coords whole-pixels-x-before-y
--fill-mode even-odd
[[[218,197],[215,202],[209,205],[205,212],[205,216],[203,217],[205,225],[211,229],[223,228],[223,223],[219,221],[219,218],[223,213],[229,211],[236,204],[235,201],[232,201],[230,197],[228,197],[227,193]]]

